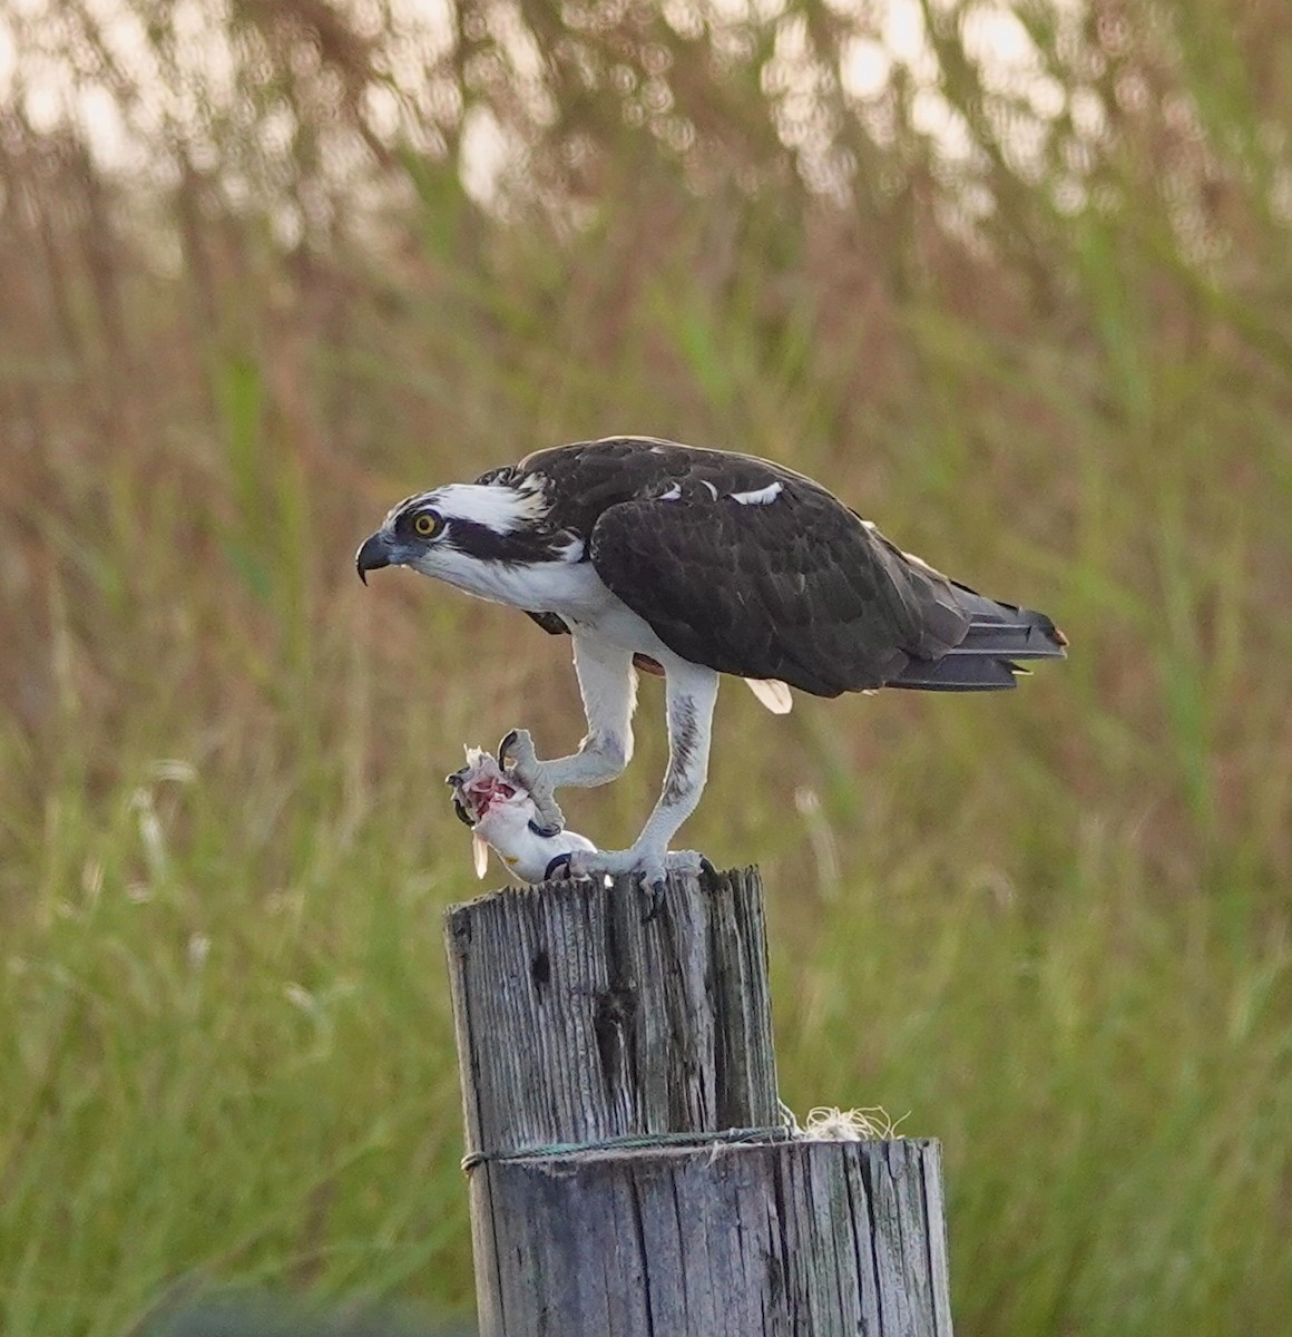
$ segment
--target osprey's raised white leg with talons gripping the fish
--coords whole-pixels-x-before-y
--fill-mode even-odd
[[[632,714],[637,707],[632,652],[589,636],[576,635],[573,640],[575,673],[588,717],[579,751],[540,761],[528,729],[513,729],[498,745],[498,762],[512,759],[512,770],[532,794],[546,834],[565,825],[553,797],[557,789],[605,785],[621,775],[632,759]]]

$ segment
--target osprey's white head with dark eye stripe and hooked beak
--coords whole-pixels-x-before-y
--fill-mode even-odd
[[[544,523],[548,505],[540,479],[510,483],[450,483],[401,501],[363,540],[354,566],[413,567],[422,575],[472,588],[472,568],[488,563],[561,559],[571,535]]]

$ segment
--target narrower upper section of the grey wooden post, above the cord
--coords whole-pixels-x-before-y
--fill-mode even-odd
[[[468,1154],[780,1122],[755,869],[508,888],[446,915]]]

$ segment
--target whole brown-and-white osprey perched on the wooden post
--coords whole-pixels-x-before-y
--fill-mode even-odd
[[[641,668],[664,675],[668,767],[625,850],[576,850],[575,876],[701,866],[669,850],[708,774],[721,674],[770,710],[878,687],[1013,687],[1017,660],[1064,655],[1043,614],[985,599],[890,543],[819,483],[747,455],[651,437],[579,441],[401,501],[355,566],[408,566],[568,634],[588,733],[540,761],[525,730],[498,749],[533,796],[540,833],[564,825],[554,792],[604,785],[632,757]]]

